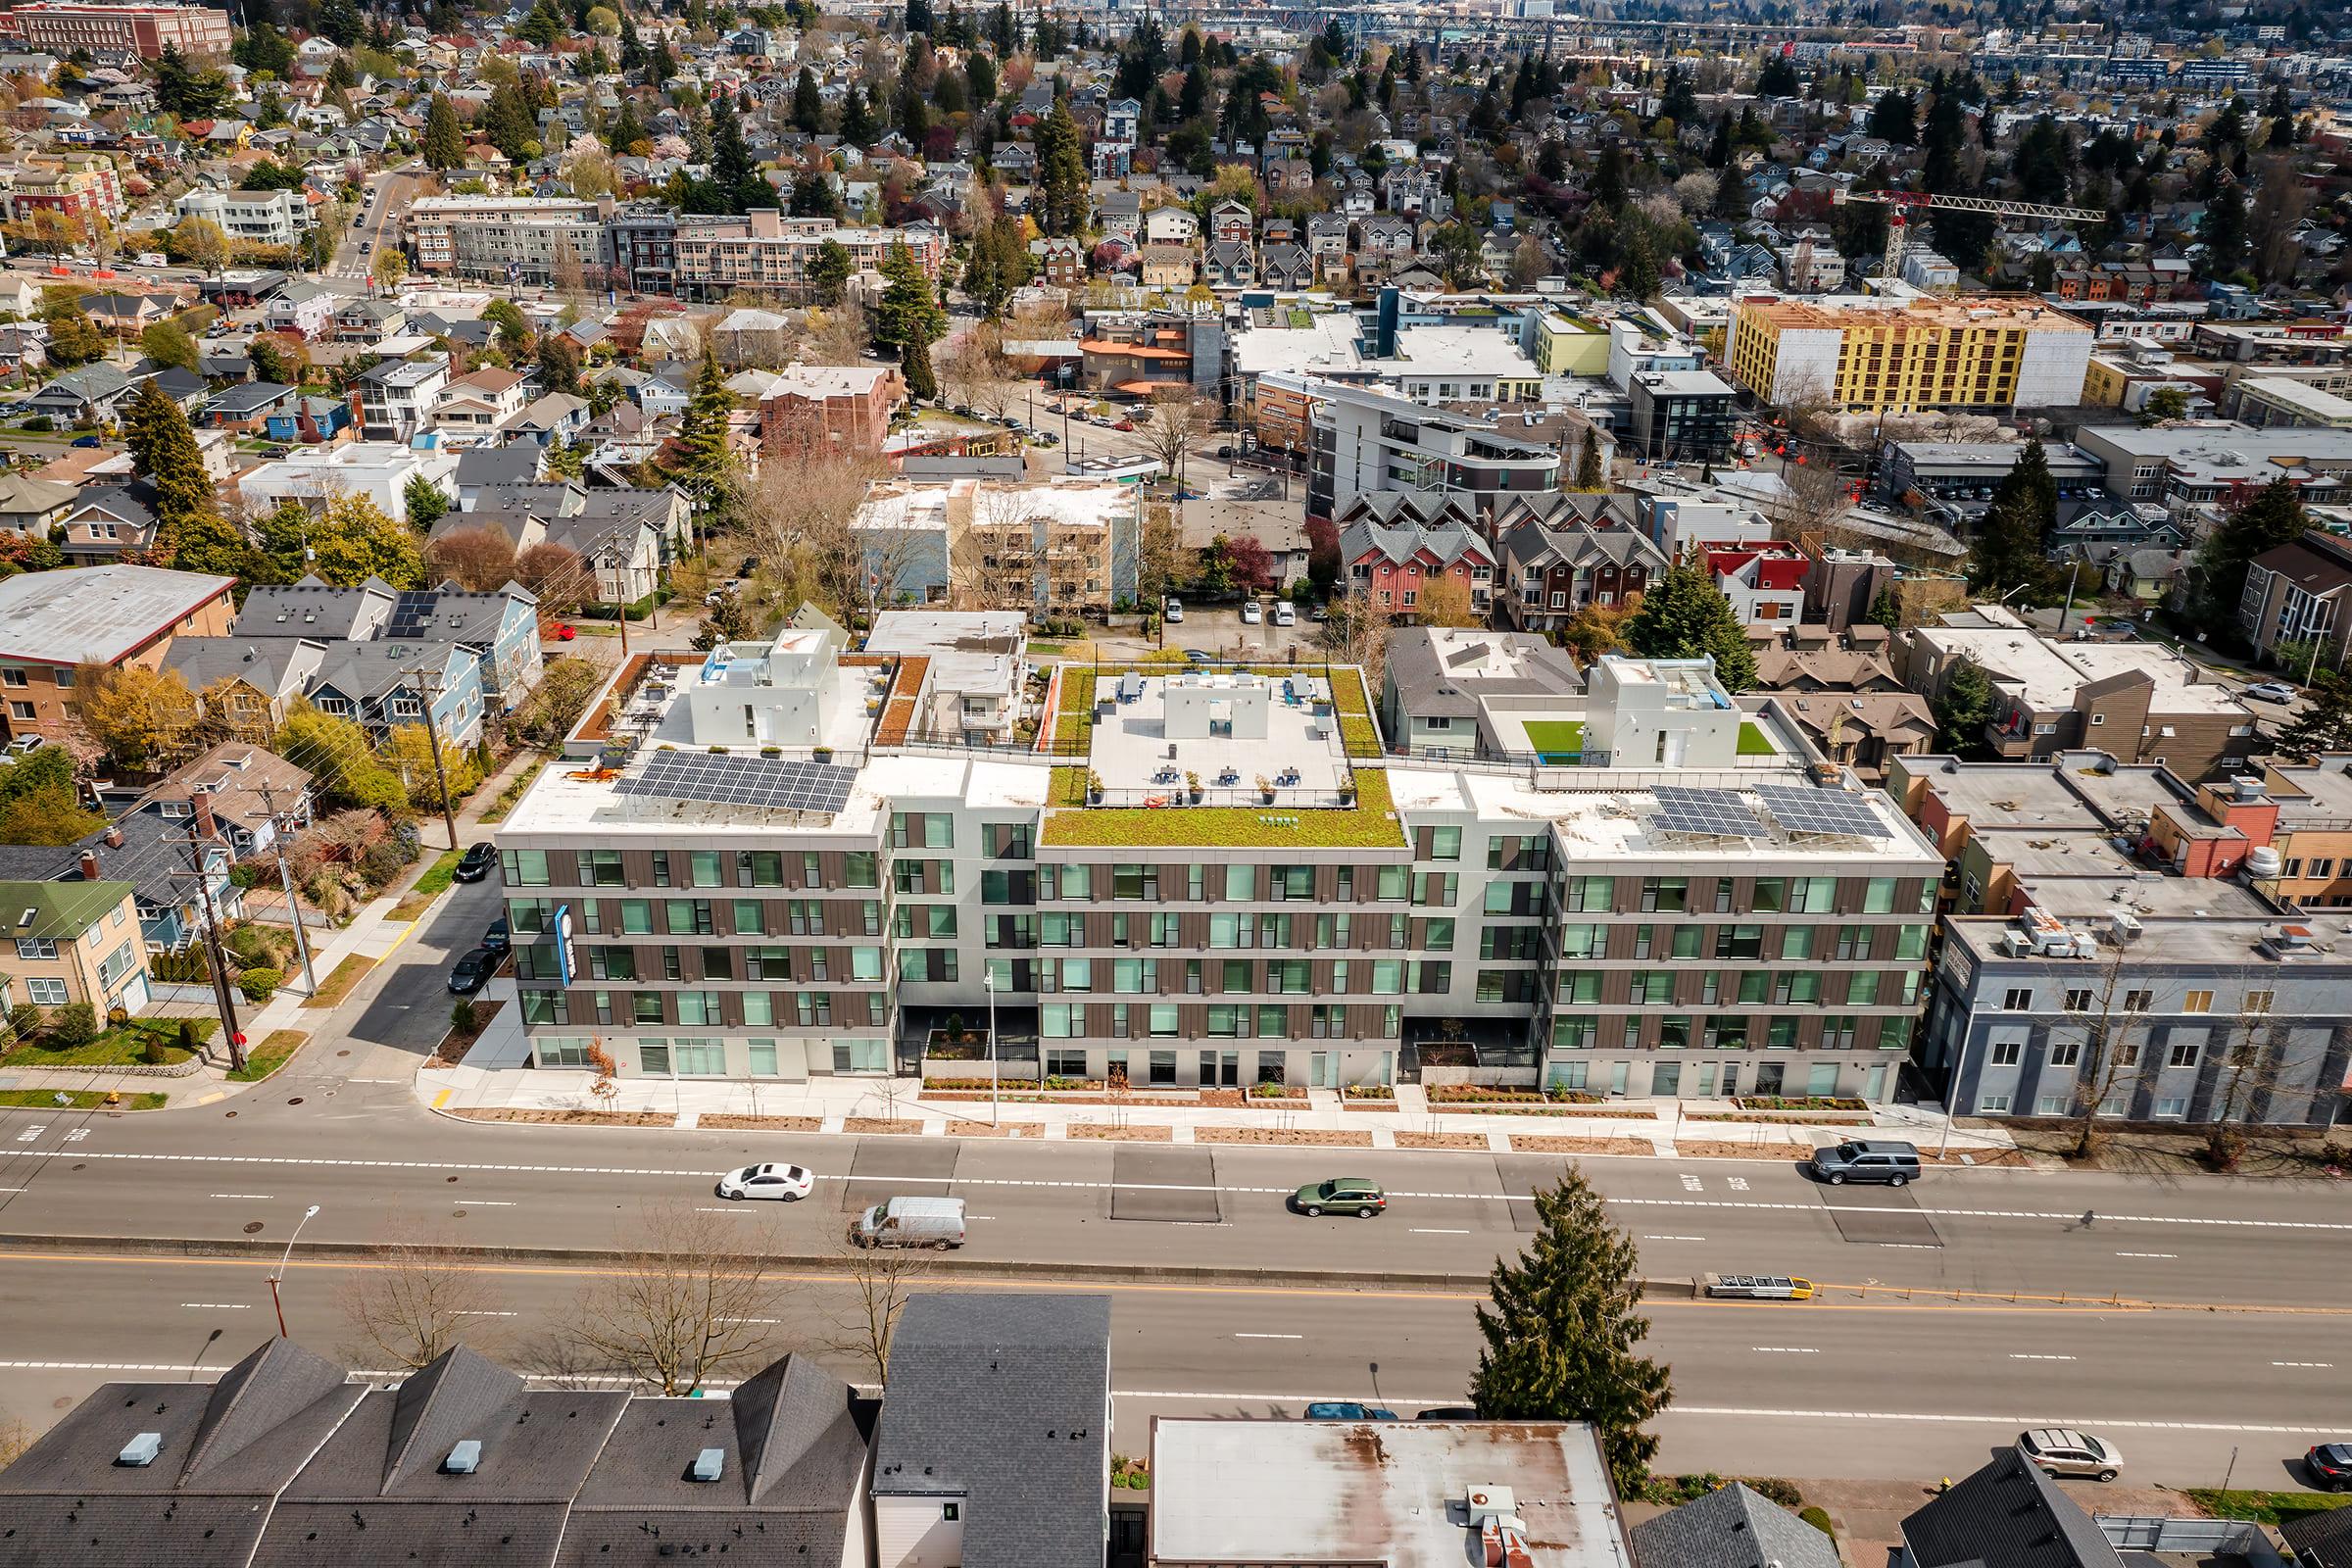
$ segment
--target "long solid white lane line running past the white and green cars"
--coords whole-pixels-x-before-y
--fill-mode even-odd
[[[325,1168],[325,1171],[473,1171],[489,1175],[661,1175],[677,1180],[713,1180],[713,1171],[680,1171],[675,1166],[532,1166],[532,1164],[496,1164],[496,1161],[461,1161],[461,1159],[320,1159],[310,1154],[148,1154],[148,1152],[87,1152],[82,1159],[127,1159],[143,1164],[212,1164],[212,1166],[280,1166],[280,1168]],[[821,1182],[898,1182],[901,1175],[818,1175]],[[957,1187],[1035,1187],[1035,1190],[1068,1190],[1068,1192],[1105,1192],[1110,1187],[1122,1187],[1127,1192],[1235,1192],[1235,1194],[1279,1194],[1289,1197],[1296,1187],[1218,1187],[1202,1182],[1112,1182],[1112,1180],[1044,1180],[1044,1178],[1009,1178],[1009,1175],[953,1175],[948,1178]],[[1529,1192],[1390,1192],[1392,1199],[1435,1199],[1435,1201],[1477,1201],[1477,1204],[1501,1204],[1501,1201],[1524,1201],[1534,1194]],[[1731,1208],[1731,1211],[1783,1211],[1783,1213],[1886,1213],[1867,1204],[1797,1204],[1797,1201],[1773,1201],[1773,1199],[1644,1199],[1644,1197],[1609,1197],[1604,1199],[1621,1208]],[[2077,1211],[2053,1211],[2053,1208],[1917,1208],[1910,1213],[1922,1213],[1938,1220],[2082,1220]],[[2352,1220],[2230,1220],[2230,1218],[2197,1218],[2197,1215],[2164,1215],[2164,1213],[2103,1213],[2103,1222],[2114,1225],[2190,1225],[2211,1229],[2326,1229],[2326,1232],[2352,1232]]]

